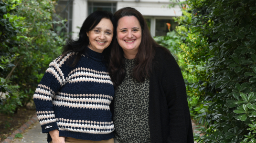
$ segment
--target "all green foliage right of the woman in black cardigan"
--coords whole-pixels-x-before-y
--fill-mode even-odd
[[[187,0],[156,40],[181,67],[199,143],[256,143],[256,1]],[[184,5],[185,4],[185,5]],[[167,42],[172,40],[178,42]]]

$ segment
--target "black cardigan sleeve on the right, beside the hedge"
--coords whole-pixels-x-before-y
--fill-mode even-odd
[[[161,86],[166,96],[170,134],[168,143],[194,143],[186,87],[181,69],[174,57],[162,56]]]

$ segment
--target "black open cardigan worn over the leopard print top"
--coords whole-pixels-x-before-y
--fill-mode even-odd
[[[152,74],[149,78],[151,143],[194,143],[181,69],[173,56],[161,48],[155,50]],[[112,114],[113,108],[114,99],[110,105]]]

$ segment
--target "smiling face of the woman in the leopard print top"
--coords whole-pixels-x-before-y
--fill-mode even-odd
[[[141,27],[135,16],[125,16],[118,20],[117,41],[125,54],[137,54],[141,42]]]

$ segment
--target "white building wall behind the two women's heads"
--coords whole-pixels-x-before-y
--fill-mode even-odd
[[[72,31],[73,38],[76,38],[84,20],[87,17],[87,2],[117,2],[117,10],[123,7],[133,7],[137,9],[143,16],[151,18],[151,35],[155,36],[155,20],[170,19],[171,17],[181,16],[182,11],[177,5],[174,8],[169,8],[170,0],[73,0],[73,20]],[[184,0],[180,0],[184,1]]]

